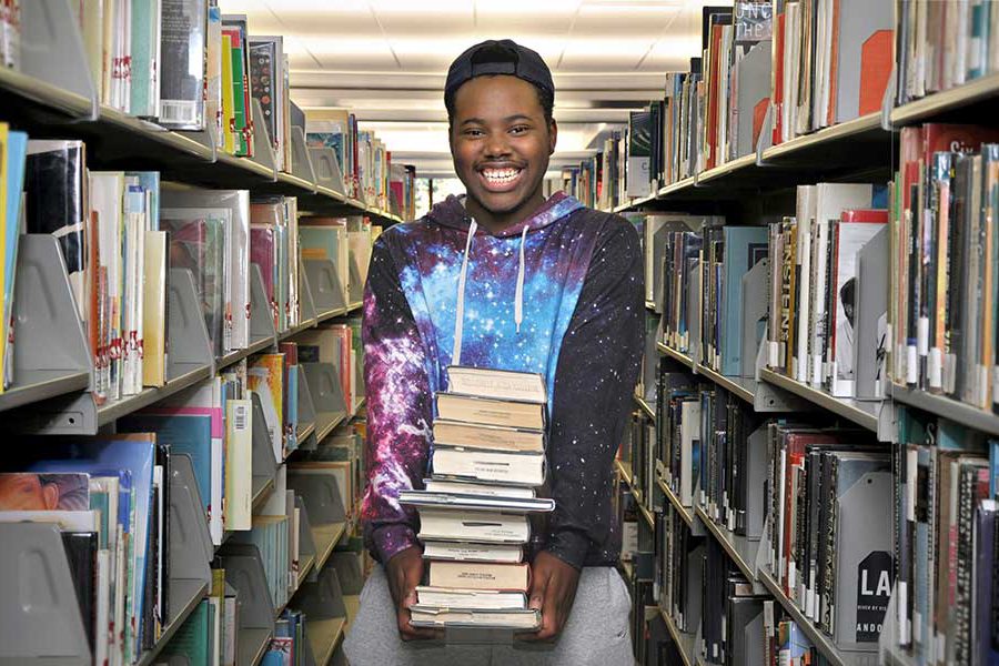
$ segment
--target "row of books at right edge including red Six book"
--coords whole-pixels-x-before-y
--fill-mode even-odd
[[[997,411],[999,134],[992,128],[906,128],[889,223],[889,373],[896,384]],[[956,266],[956,269],[955,269]]]

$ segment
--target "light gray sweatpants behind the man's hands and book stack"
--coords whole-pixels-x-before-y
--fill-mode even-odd
[[[385,573],[375,566],[361,592],[361,609],[343,649],[351,666],[633,666],[630,606],[628,588],[616,569],[586,567],[579,576],[573,610],[555,643],[403,643]]]

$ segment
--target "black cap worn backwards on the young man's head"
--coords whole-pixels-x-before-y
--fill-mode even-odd
[[[475,44],[451,63],[444,83],[444,98],[454,94],[475,77],[487,74],[509,74],[555,94],[552,72],[536,51],[512,39],[490,39]]]

